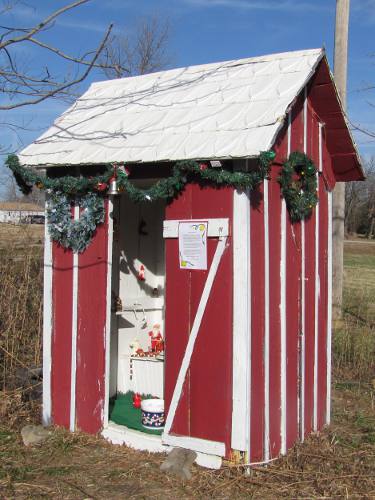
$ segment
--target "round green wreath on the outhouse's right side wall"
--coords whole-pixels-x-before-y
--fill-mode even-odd
[[[278,181],[292,222],[310,217],[318,203],[316,172],[313,161],[299,151],[283,163]]]

